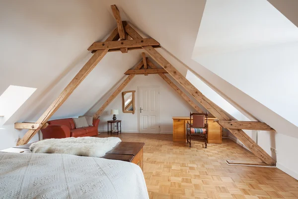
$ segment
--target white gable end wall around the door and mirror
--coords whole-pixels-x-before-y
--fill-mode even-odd
[[[169,78],[172,80],[171,77]],[[174,80],[172,81],[174,82]],[[87,112],[86,115],[92,115],[104,103],[104,101],[110,97],[119,84],[117,84],[112,91],[107,93],[107,95],[100,100],[89,112]],[[107,131],[107,120],[111,120],[113,117],[113,115],[110,114],[110,110],[119,109],[119,115],[116,116],[117,119],[122,120],[123,132],[138,132],[138,112],[140,111],[138,102],[138,87],[142,86],[159,86],[160,133],[173,133],[172,116],[189,116],[190,111],[195,111],[193,107],[183,100],[163,79],[159,77],[159,75],[137,75],[122,91],[136,91],[135,114],[122,112],[122,93],[120,93],[100,115],[100,123],[98,127],[99,131]],[[177,86],[183,90],[183,88],[181,88],[179,85]]]

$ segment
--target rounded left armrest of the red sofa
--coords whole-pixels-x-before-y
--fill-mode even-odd
[[[71,130],[66,125],[49,124],[41,132],[43,139],[71,137]]]

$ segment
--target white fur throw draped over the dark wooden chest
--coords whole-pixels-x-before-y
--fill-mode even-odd
[[[78,156],[102,157],[121,139],[118,137],[68,137],[46,139],[31,144],[33,153],[64,153]]]

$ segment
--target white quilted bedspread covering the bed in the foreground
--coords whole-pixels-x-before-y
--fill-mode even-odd
[[[68,154],[0,152],[0,199],[149,199],[138,165]]]

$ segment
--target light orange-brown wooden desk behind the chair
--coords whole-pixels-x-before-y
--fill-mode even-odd
[[[173,119],[173,142],[186,142],[186,124],[188,117],[172,117]],[[215,120],[217,118],[208,117],[208,143],[222,143],[222,126]]]

